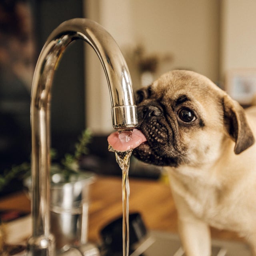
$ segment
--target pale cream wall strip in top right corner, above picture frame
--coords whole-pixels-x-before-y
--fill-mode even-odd
[[[256,1],[221,1],[221,78],[234,68],[256,68]]]

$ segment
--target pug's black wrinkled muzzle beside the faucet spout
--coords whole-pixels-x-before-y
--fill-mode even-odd
[[[174,130],[164,109],[154,102],[139,105],[138,122],[138,128],[146,136],[147,142],[134,149],[134,156],[149,164],[177,166]]]

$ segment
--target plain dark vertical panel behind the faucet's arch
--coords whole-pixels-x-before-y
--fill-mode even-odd
[[[65,20],[83,18],[84,8],[83,0],[30,0],[30,3],[35,21],[37,60],[50,33]],[[78,135],[85,128],[84,65],[84,42],[77,40],[68,46],[54,72],[51,147],[56,148],[58,152],[73,152],[73,148],[69,146],[74,145]]]

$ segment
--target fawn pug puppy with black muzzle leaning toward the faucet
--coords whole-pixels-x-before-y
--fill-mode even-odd
[[[238,232],[256,255],[256,108],[205,76],[174,70],[138,94],[139,160],[164,166],[186,256],[210,256],[209,226]]]

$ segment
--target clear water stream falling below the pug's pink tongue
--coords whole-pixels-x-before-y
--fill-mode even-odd
[[[116,162],[122,170],[122,200],[123,200],[123,256],[129,255],[129,166],[132,149],[124,152],[114,150],[112,146],[108,146],[108,150],[116,155]]]

